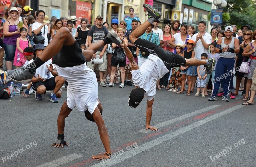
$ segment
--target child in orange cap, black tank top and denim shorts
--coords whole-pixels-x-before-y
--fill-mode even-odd
[[[195,51],[193,50],[193,46],[194,46],[194,40],[188,40],[186,43],[187,46],[187,50],[183,51],[183,56],[186,59],[191,59],[191,58],[195,58]],[[181,69],[181,76],[182,76],[182,81],[181,81],[181,91],[178,91],[176,93],[184,93],[184,89],[185,89],[185,80],[186,80],[186,75],[188,77],[188,92],[187,92],[187,96],[190,96],[190,89],[192,86],[192,66],[186,66],[186,67],[180,67]]]

